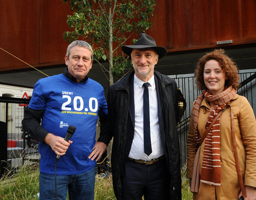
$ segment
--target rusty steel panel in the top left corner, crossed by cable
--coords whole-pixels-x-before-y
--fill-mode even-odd
[[[39,1],[0,1],[0,20],[0,47],[32,65],[38,63]],[[0,60],[0,71],[25,66],[3,50]]]

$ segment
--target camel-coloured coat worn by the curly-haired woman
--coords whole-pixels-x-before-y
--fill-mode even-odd
[[[238,94],[228,103],[234,114],[235,135],[240,169],[244,185],[256,187],[256,122],[250,103]],[[234,150],[231,140],[230,107],[223,111],[220,119],[220,157],[221,157],[221,186],[207,185],[200,182],[198,193],[194,199],[202,200],[237,200],[241,191],[239,186]],[[210,105],[204,99],[199,110],[198,131],[203,137],[206,119]],[[187,140],[187,178],[192,177],[193,163],[196,154],[196,144],[193,127],[190,120]],[[201,148],[200,173],[202,167],[204,142]]]

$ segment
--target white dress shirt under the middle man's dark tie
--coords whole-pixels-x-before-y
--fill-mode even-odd
[[[152,153],[148,156],[144,153],[144,139],[143,139],[143,81],[141,81],[134,74],[134,109],[135,109],[135,124],[134,137],[130,150],[129,157],[133,159],[142,159],[144,161],[158,158],[164,155],[162,137],[160,134],[158,123],[158,106],[157,94],[154,75],[149,79],[149,115],[150,115],[150,139]]]

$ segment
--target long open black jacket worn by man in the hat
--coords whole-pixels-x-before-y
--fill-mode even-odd
[[[181,199],[181,174],[180,174],[180,148],[177,133],[177,122],[179,119],[177,84],[165,75],[154,72],[156,83],[158,83],[158,98],[161,102],[162,123],[159,127],[163,138],[165,155],[167,158],[166,175],[170,177],[170,199]],[[124,161],[127,158],[126,148],[131,148],[130,143],[133,135],[129,135],[132,119],[129,111],[130,85],[133,84],[134,71],[125,76],[121,81],[111,85],[108,92],[108,114],[110,122],[110,134],[101,135],[98,141],[108,142],[114,137],[111,152],[111,167],[113,172],[113,187],[117,199],[122,199],[121,177]],[[157,86],[157,85],[156,85]],[[159,106],[158,106],[159,107]],[[158,109],[159,110],[159,109]],[[134,119],[133,119],[134,120]],[[133,126],[134,127],[134,126]],[[134,134],[134,129],[133,129]],[[130,151],[130,149],[129,149]]]

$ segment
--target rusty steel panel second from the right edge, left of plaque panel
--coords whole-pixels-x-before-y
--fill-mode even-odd
[[[205,0],[173,0],[173,49],[210,44],[209,4]]]

